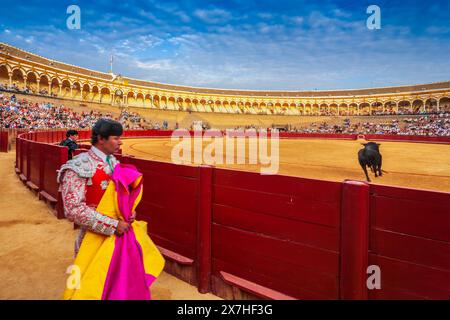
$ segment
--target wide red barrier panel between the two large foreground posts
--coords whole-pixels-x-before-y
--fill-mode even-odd
[[[213,283],[238,277],[277,291],[247,288],[263,298],[339,298],[340,183],[215,169],[213,194]]]

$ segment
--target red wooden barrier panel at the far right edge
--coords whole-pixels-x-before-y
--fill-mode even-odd
[[[450,195],[370,186],[369,264],[381,269],[370,299],[450,297]]]

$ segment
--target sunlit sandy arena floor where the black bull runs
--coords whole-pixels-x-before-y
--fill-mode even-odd
[[[123,142],[124,154],[167,162],[171,162],[172,148],[178,143],[170,138],[124,139]],[[364,141],[280,139],[279,174],[332,181],[364,181],[357,158],[357,152],[362,148],[361,142]],[[380,143],[385,172],[378,178],[369,173],[373,183],[450,192],[450,145]],[[207,144],[209,142],[204,143],[203,147]],[[194,150],[191,159],[193,153]],[[217,167],[259,172],[260,165],[248,164],[248,144],[246,156],[247,164],[219,164]]]

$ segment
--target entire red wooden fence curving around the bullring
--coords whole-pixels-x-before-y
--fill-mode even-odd
[[[161,135],[167,131],[149,133]],[[58,218],[64,214],[56,170],[67,161],[67,148],[52,143],[63,138],[64,131],[25,133],[16,143],[17,173],[56,204]],[[80,138],[89,139],[89,132]],[[166,271],[200,292],[450,298],[449,193],[117,157],[144,174],[137,211],[166,257]],[[370,265],[380,267],[381,289],[366,286]]]

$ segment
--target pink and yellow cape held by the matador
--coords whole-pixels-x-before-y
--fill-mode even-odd
[[[142,198],[142,174],[117,164],[97,211],[128,221]],[[150,286],[164,268],[164,258],[147,234],[147,223],[134,221],[121,236],[87,231],[74,262],[80,281],[63,299],[149,300]]]

